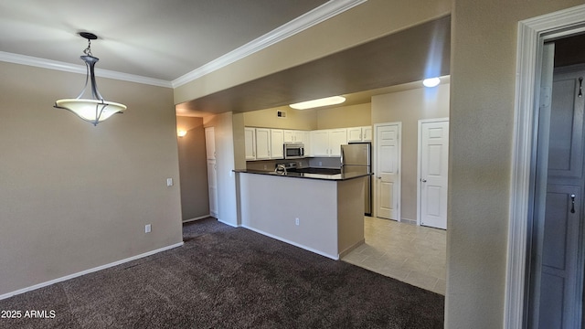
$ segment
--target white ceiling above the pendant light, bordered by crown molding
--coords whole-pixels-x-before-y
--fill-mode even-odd
[[[87,41],[78,32],[88,31],[99,37],[91,42],[97,69],[170,82],[250,42],[261,45],[295,18],[306,25],[361,2],[0,0],[0,60],[16,54],[82,66]]]

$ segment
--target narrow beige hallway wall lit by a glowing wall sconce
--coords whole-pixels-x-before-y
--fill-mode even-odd
[[[181,209],[183,220],[209,215],[205,130],[202,118],[176,117],[179,173],[181,176]]]

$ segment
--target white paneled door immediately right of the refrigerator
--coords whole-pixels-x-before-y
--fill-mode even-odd
[[[376,125],[376,216],[400,221],[401,122]]]

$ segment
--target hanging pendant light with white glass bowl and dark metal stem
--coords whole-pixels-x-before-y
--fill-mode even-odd
[[[80,56],[85,62],[86,67],[85,86],[77,98],[55,101],[54,107],[57,109],[72,111],[82,120],[90,122],[95,126],[99,122],[110,118],[113,114],[126,110],[126,105],[113,101],[104,101],[103,97],[101,97],[100,91],[98,91],[95,82],[95,63],[97,63],[100,58],[94,58],[91,55],[91,40],[95,40],[98,37],[89,32],[80,32],[80,36],[88,39],[88,48],[85,48],[85,50],[83,50],[84,55]],[[92,99],[82,99],[81,96],[83,96],[85,90],[88,88],[88,81],[90,81]]]

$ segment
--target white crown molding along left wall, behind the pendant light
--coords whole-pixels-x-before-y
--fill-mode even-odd
[[[36,58],[32,56],[13,54],[4,51],[0,51],[0,61],[9,63],[22,64],[33,66],[42,69],[57,69],[60,71],[66,71],[71,73],[86,74],[86,68],[84,65],[70,64],[57,60]],[[95,69],[95,75],[101,78],[108,78],[113,80],[122,80],[129,82],[142,83],[152,86],[173,88],[171,81],[160,80],[154,78],[147,78],[139,75],[117,72],[109,69]]]

